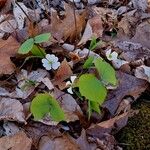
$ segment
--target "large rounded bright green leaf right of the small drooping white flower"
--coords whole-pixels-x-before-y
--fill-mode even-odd
[[[90,101],[102,104],[106,98],[107,90],[93,74],[83,74],[78,81],[79,91]]]

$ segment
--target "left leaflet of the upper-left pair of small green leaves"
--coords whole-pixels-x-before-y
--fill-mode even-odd
[[[32,49],[34,45],[34,39],[30,38],[28,40],[26,40],[19,48],[18,53],[19,54],[27,54],[29,53],[29,51]]]

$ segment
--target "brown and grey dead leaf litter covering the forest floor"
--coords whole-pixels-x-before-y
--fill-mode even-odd
[[[114,134],[137,113],[131,104],[149,90],[149,12],[147,0],[1,0],[0,150],[121,149]],[[18,54],[23,41],[41,33],[51,33],[51,41],[38,46],[59,59],[57,70],[52,66],[52,71],[44,70],[41,60],[31,53]],[[102,44],[94,45],[91,51],[93,38]],[[89,56],[94,63],[83,70]],[[97,72],[93,67],[97,58],[114,66],[118,83],[107,85],[101,113],[95,110],[89,120],[88,101],[81,96],[84,91],[80,94],[78,78],[71,83],[70,77],[81,76],[84,71],[101,75],[102,68],[97,65]],[[67,82],[71,83],[72,94],[68,93]],[[32,100],[45,92],[53,95],[63,109],[65,121],[53,121],[49,116],[33,119]]]

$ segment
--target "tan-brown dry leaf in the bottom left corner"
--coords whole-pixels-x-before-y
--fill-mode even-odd
[[[32,140],[22,131],[0,138],[0,150],[30,150]]]

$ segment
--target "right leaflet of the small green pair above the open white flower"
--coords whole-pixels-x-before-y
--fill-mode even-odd
[[[50,39],[50,33],[43,33],[34,37],[34,43],[39,44],[43,42],[47,42]]]

